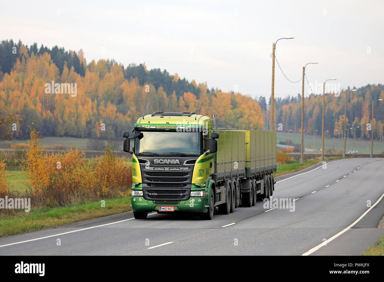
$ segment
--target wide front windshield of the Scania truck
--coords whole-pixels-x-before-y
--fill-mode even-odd
[[[135,155],[192,155],[202,154],[200,132],[142,132],[136,138]]]

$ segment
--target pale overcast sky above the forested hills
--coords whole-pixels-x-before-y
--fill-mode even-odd
[[[145,62],[222,91],[271,95],[272,43],[286,76],[341,88],[383,83],[383,1],[2,1],[0,39]],[[301,93],[275,69],[275,97]],[[305,85],[308,95],[308,85]]]

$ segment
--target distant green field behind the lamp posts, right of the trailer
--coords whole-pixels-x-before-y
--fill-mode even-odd
[[[317,135],[314,137],[314,149],[319,150],[321,148],[321,131],[316,132]],[[301,144],[301,134],[300,133],[286,133],[286,132],[276,132],[276,142],[291,140],[292,143]],[[346,151],[354,150],[354,139],[353,136],[349,136],[348,143],[346,144]],[[304,147],[310,148],[310,145],[313,146],[313,135],[304,135]],[[338,150],[344,149],[344,141],[342,138],[325,137],[324,140],[324,149],[325,152],[327,149],[333,148],[334,145],[339,145]],[[368,150],[367,150],[368,148]],[[371,140],[361,140],[356,139],[356,150],[359,153],[371,153]],[[373,152],[381,153],[384,151],[384,142],[373,140]]]

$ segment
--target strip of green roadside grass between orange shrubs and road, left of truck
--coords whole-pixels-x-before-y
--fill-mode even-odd
[[[14,210],[12,214],[0,214],[0,236],[56,227],[131,209],[131,197],[125,197],[105,200],[105,207],[101,207],[100,202],[87,202],[55,208],[31,208],[29,213]]]

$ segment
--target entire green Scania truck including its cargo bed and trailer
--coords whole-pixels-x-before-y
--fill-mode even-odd
[[[254,206],[273,195],[276,132],[217,129],[194,112],[154,112],[123,134],[132,154],[131,203],[148,213],[193,212],[201,219]]]

